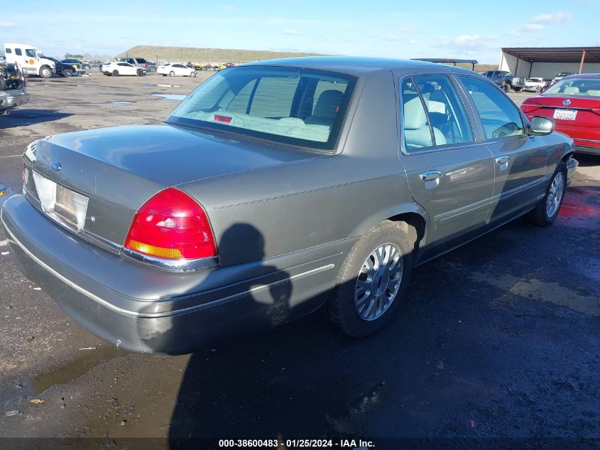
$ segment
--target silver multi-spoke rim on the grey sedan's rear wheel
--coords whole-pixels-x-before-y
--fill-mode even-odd
[[[402,255],[393,244],[377,247],[363,263],[354,288],[354,306],[366,321],[381,317],[390,307],[402,279]]]

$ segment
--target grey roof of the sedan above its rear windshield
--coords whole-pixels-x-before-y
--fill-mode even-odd
[[[281,58],[274,60],[256,61],[244,65],[271,65],[276,67],[291,67],[315,70],[331,70],[348,75],[366,75],[378,70],[390,70],[396,68],[439,68],[438,63],[427,63],[425,61],[399,60],[388,58],[366,58],[358,56],[305,56],[301,58]],[[473,73],[471,70],[445,66],[449,70]]]

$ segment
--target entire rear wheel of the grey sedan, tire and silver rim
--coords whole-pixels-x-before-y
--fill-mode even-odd
[[[366,232],[339,269],[324,312],[347,336],[375,333],[398,309],[413,268],[413,245],[403,225],[386,220]]]

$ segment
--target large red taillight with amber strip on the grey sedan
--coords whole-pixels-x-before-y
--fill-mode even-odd
[[[189,195],[168,188],[138,210],[125,248],[163,259],[217,256],[207,215]]]

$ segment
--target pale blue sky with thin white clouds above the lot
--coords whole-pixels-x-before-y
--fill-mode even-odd
[[[173,45],[497,64],[501,47],[600,46],[598,18],[600,0],[4,1],[0,43],[59,58]]]

